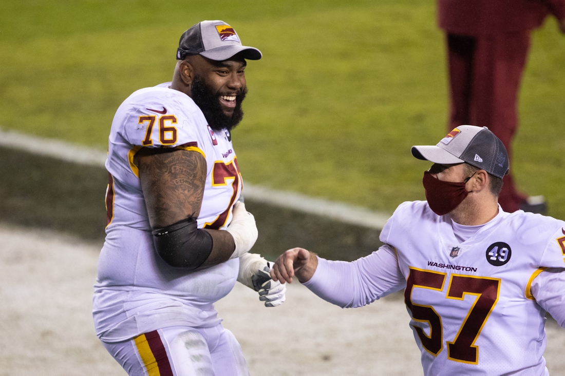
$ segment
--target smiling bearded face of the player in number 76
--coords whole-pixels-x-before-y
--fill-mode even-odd
[[[245,59],[235,55],[221,62],[191,56],[194,69],[190,97],[202,110],[214,130],[228,129],[243,118],[241,103],[247,93]]]

